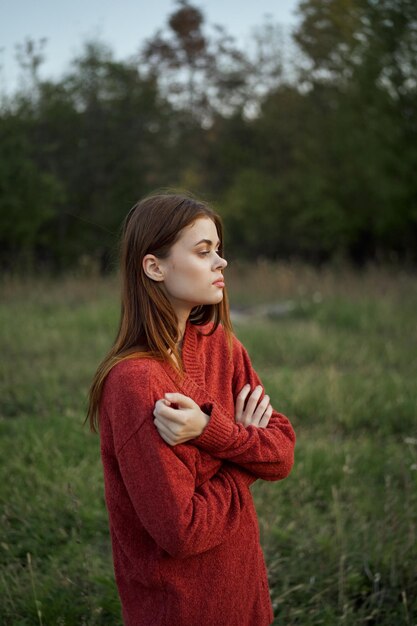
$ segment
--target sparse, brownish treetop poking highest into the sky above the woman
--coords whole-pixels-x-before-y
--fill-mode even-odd
[[[222,26],[208,33],[199,8],[187,0],[177,5],[140,59],[177,109],[207,125],[214,111],[231,112],[244,100],[248,61]]]

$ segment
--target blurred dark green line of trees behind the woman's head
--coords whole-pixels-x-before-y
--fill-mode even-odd
[[[322,263],[417,259],[417,4],[304,0],[242,49],[179,0],[135,56],[84,45],[0,107],[0,264],[112,265],[143,195],[187,189],[222,214],[230,254]]]

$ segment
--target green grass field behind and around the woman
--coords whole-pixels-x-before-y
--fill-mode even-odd
[[[227,271],[232,304],[255,307],[236,334],[298,435],[290,477],[252,488],[276,623],[415,626],[417,277]],[[1,293],[0,624],[120,625],[99,441],[82,427],[117,281]]]

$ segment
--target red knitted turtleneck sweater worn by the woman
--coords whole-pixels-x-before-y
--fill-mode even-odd
[[[205,329],[207,331],[207,328]],[[221,326],[188,323],[185,378],[156,360],[122,361],[100,407],[101,453],[115,577],[127,626],[267,626],[273,620],[249,485],[285,478],[295,435],[273,412],[267,428],[234,420],[235,398],[259,378]],[[155,402],[179,391],[210,415],[200,437],[171,447]]]

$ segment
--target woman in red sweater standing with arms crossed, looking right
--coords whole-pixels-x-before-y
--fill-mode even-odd
[[[273,620],[249,486],[295,436],[233,336],[220,218],[160,194],[128,214],[117,339],[90,390],[128,626]]]

